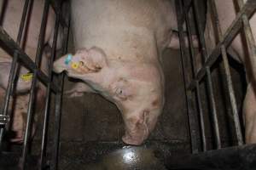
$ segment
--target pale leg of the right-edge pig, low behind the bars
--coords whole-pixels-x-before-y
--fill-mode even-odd
[[[254,90],[252,83],[249,83],[243,104],[247,144],[256,143],[256,95]]]

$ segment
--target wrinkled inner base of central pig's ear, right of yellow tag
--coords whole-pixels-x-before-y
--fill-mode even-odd
[[[83,73],[99,72],[108,66],[107,57],[101,48],[90,48],[89,50],[79,50],[79,67]]]

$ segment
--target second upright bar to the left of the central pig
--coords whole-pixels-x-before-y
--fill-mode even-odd
[[[55,49],[56,43],[58,40],[58,31],[60,26],[60,14],[56,14],[55,20],[55,33],[53,40],[53,47],[51,48],[51,59],[49,63],[49,79],[52,80],[52,70],[53,70],[53,62],[55,59]],[[50,105],[50,95],[51,95],[51,82],[47,84],[47,92],[46,92],[46,100],[45,100],[45,110],[44,110],[44,127],[43,127],[43,137],[42,137],[42,145],[41,145],[41,154],[39,160],[39,169],[44,169],[44,156],[46,152],[46,144],[47,144],[47,133],[48,133],[48,124],[49,124],[49,105]]]

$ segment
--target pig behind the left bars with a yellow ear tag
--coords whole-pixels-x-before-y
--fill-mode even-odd
[[[25,0],[0,0],[1,11],[1,25],[3,29],[7,31],[10,37],[14,40],[16,39],[20,27],[20,20],[22,9]],[[30,17],[28,17],[26,25],[26,31],[24,33],[23,42],[21,42],[21,48],[25,53],[34,61],[37,53],[38,37],[41,26],[41,20],[43,16],[44,0],[33,1],[32,8],[30,12]],[[44,35],[44,44],[49,47],[52,46],[52,37],[55,28],[55,13],[53,8],[49,8],[49,14],[47,19],[47,26]],[[61,33],[58,39],[57,48],[61,48]],[[46,47],[46,46],[45,46]],[[49,68],[49,48],[44,48],[42,61],[40,65],[41,71],[48,74]],[[1,98],[5,95],[5,90],[8,85],[9,71],[12,62],[13,54],[9,54],[8,50],[1,46],[0,48],[0,88],[3,91],[1,93]],[[29,92],[32,84],[32,74],[27,74],[29,71],[23,65],[20,65],[18,72],[18,80],[15,87],[15,93],[11,99],[11,104],[9,105],[9,114],[12,112],[13,120],[11,124],[11,130],[16,133],[15,137],[10,139],[13,142],[22,143],[23,134],[26,127],[26,112],[27,105],[29,101]],[[15,98],[15,99],[13,99]],[[44,109],[44,98],[45,98],[45,88],[41,83],[38,83],[37,90],[37,112],[43,111]],[[13,104],[13,102],[15,102]],[[13,106],[13,107],[12,107]],[[14,111],[12,111],[12,109]],[[33,123],[33,132],[35,131],[35,123]]]

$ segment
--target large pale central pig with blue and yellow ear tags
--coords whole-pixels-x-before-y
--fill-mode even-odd
[[[71,8],[76,52],[55,60],[54,71],[83,81],[70,93],[113,102],[123,142],[143,144],[165,101],[161,55],[177,30],[174,1],[76,0]]]

